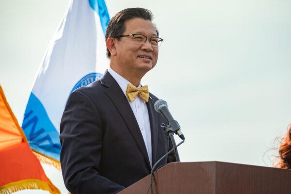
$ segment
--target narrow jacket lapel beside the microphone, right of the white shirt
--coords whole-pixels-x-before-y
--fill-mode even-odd
[[[151,143],[152,143],[152,164],[154,165],[157,162],[157,144],[158,144],[158,123],[157,117],[155,116],[156,112],[154,110],[154,102],[151,97],[148,98],[146,103],[149,122],[150,122],[150,130],[151,130]]]

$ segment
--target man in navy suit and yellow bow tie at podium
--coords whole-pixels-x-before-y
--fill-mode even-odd
[[[120,11],[106,32],[110,68],[69,97],[61,121],[61,165],[73,194],[115,194],[141,178],[170,148],[154,111],[158,99],[142,77],[157,63],[162,39],[152,14],[142,8]],[[173,154],[159,166],[174,162]]]

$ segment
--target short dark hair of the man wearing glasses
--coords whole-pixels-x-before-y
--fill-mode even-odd
[[[109,37],[116,37],[116,36],[122,35],[123,32],[126,30],[124,23],[125,21],[129,19],[142,18],[145,20],[152,21],[152,17],[153,17],[153,14],[151,13],[151,11],[144,8],[136,7],[136,8],[127,8],[127,9],[121,10],[110,19],[107,30],[106,30],[106,34],[105,34],[105,39],[107,41]],[[156,28],[156,31],[157,31],[157,35],[159,36],[159,32],[157,28]],[[117,38],[117,39],[119,40],[120,38]],[[109,52],[108,49],[107,49],[106,54],[107,54],[107,57],[110,58],[111,53]]]

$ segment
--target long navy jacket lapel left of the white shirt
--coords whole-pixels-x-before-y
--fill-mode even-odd
[[[100,81],[102,85],[108,88],[104,91],[105,94],[112,100],[116,109],[121,114],[123,120],[125,121],[129,129],[129,132],[131,133],[135,143],[137,144],[138,148],[145,157],[148,167],[150,168],[150,163],[146,151],[146,145],[141,130],[139,129],[138,123],[136,121],[136,118],[129,105],[128,99],[125,97],[118,83],[113,79],[113,77],[110,75],[110,73],[108,73],[108,71],[105,72],[104,76],[100,79]]]

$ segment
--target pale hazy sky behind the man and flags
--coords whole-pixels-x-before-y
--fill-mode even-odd
[[[164,42],[158,64],[142,84],[166,100],[178,120],[186,137],[178,149],[181,162],[272,166],[276,152],[268,150],[291,123],[290,0],[106,3],[110,16],[128,7],[154,14]],[[0,0],[0,84],[20,125],[33,80],[68,4]],[[65,193],[61,174],[45,169]]]

